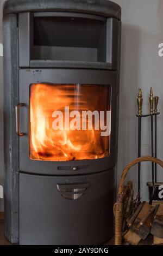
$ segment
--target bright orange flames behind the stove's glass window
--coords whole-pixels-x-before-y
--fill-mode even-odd
[[[67,106],[81,116],[82,111],[109,111],[110,86],[31,85],[30,159],[70,161],[109,156],[110,136],[101,136],[102,130],[95,130],[95,126],[91,130],[65,129],[65,125],[62,130],[53,129],[54,111],[65,116]]]

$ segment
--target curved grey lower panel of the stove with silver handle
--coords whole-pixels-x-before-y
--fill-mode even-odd
[[[20,174],[20,245],[100,245],[112,236],[114,170]],[[71,200],[73,199],[73,200]]]

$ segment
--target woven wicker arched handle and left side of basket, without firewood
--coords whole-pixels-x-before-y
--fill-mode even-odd
[[[114,205],[115,216],[115,245],[122,245],[122,210],[123,210],[123,195],[124,195],[124,181],[130,168],[140,162],[153,162],[159,164],[163,168],[163,162],[153,157],[140,157],[129,163],[123,170],[120,184],[118,187],[117,203]]]

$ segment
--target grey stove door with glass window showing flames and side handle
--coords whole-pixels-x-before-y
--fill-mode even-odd
[[[20,171],[65,175],[114,167],[117,72],[21,69],[19,90]]]

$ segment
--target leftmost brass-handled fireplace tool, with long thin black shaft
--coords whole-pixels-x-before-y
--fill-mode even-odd
[[[141,89],[138,90],[138,98],[137,98],[137,105],[138,105],[138,157],[141,157],[141,117],[142,117],[142,91]],[[140,177],[141,177],[141,163],[138,164],[138,194],[140,200]]]

